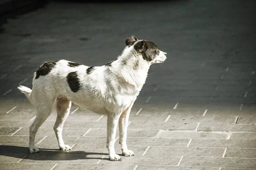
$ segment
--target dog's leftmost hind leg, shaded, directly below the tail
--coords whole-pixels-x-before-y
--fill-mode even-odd
[[[40,102],[38,102],[40,103]],[[29,152],[37,153],[39,152],[38,147],[35,147],[35,135],[39,127],[45,122],[52,112],[52,103],[54,100],[48,100],[48,102],[42,102],[37,106],[37,115],[34,122],[29,127]]]

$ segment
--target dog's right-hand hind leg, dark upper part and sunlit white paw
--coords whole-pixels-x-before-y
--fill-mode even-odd
[[[53,129],[55,131],[60,150],[71,150],[71,147],[69,145],[64,144],[62,139],[62,128],[63,128],[64,122],[67,119],[67,116],[70,113],[70,108],[71,108],[70,100],[64,97],[61,97],[57,100],[57,103],[56,103],[57,118],[56,118],[56,122]]]

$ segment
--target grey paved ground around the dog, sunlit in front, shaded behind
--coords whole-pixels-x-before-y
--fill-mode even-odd
[[[172,0],[55,2],[9,19],[0,34],[1,169],[256,169],[255,16],[253,0]],[[64,125],[73,150],[58,151],[53,113],[36,137],[41,151],[29,154],[35,110],[17,85],[32,87],[45,60],[105,64],[131,35],[168,52],[132,109],[135,156],[108,161],[106,117],[76,106]]]

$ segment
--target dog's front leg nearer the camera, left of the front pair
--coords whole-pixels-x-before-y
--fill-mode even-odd
[[[116,128],[118,124],[119,115],[117,114],[108,114],[107,122],[107,148],[108,155],[111,161],[122,161],[119,155],[115,152],[115,140],[116,140]]]

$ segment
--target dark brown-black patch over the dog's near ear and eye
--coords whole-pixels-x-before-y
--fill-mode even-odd
[[[148,40],[137,42],[137,44],[134,45],[134,48],[136,51],[141,52],[143,59],[147,61],[152,61],[159,54],[157,45]]]

